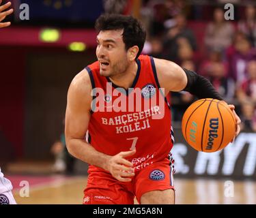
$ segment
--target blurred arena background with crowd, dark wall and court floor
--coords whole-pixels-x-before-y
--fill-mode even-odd
[[[20,19],[23,3],[29,20]],[[225,20],[226,3],[233,20]],[[255,1],[13,0],[12,7],[12,26],[0,30],[0,166],[18,204],[83,201],[87,164],[66,151],[63,119],[72,78],[96,60],[94,22],[104,12],[139,18],[144,54],[208,77],[242,119],[235,142],[198,153],[180,129],[195,99],[171,94],[176,203],[256,204]]]

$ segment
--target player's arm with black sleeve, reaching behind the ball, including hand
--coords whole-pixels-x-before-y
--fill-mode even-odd
[[[214,89],[210,81],[203,76],[183,69],[179,65],[164,59],[154,59],[156,72],[160,87],[165,88],[165,95],[169,91],[188,91],[189,93],[202,98],[214,98],[223,101],[221,95]],[[236,116],[236,136],[240,132],[240,118],[235,112],[235,106],[229,108]]]

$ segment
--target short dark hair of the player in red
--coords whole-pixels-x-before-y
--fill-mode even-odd
[[[141,55],[145,43],[146,32],[141,23],[132,16],[103,14],[96,20],[95,29],[98,32],[124,29],[123,41],[126,45],[126,50],[132,46],[138,46],[139,52],[136,59]]]

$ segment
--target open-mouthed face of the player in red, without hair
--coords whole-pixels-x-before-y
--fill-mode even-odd
[[[123,30],[100,31],[97,36],[96,56],[100,75],[115,76],[128,68],[129,62],[122,37]]]

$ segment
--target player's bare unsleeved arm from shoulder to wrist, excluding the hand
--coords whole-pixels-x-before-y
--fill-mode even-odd
[[[86,69],[72,80],[68,90],[65,136],[67,149],[74,157],[106,169],[107,155],[85,141],[90,119],[91,84]]]

